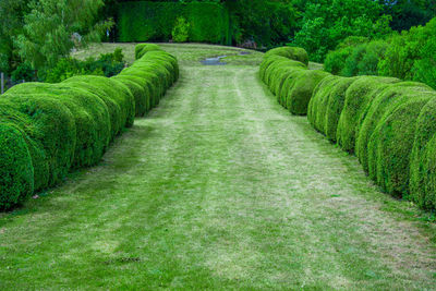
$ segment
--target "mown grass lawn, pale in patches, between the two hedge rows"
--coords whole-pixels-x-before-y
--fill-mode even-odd
[[[0,216],[0,289],[435,288],[434,223],[283,110],[262,54],[201,66],[229,51],[164,47],[182,66],[161,105]]]

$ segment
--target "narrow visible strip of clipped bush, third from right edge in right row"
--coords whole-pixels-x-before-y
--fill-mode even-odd
[[[355,142],[355,155],[358,156],[363,169],[366,172],[368,170],[368,141],[375,131],[378,122],[383,119],[384,114],[393,108],[398,104],[410,98],[411,94],[420,92],[432,90],[428,86],[414,83],[414,82],[401,82],[387,86],[378,95],[376,95],[371,104],[368,104],[365,110],[365,118],[360,126],[359,135]],[[404,94],[404,93],[408,94]]]

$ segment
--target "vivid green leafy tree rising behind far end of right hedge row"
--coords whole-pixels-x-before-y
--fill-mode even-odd
[[[391,33],[390,15],[383,4],[367,0],[302,1],[301,29],[292,44],[304,48],[311,60],[322,62],[329,50],[349,36],[378,39]]]

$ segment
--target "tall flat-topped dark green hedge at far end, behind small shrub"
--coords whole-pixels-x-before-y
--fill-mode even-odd
[[[231,44],[229,12],[213,2],[122,2],[118,9],[118,40],[168,41],[178,17],[190,24],[190,41]]]

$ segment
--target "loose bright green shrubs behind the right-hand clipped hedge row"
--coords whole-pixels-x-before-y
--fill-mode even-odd
[[[392,76],[436,88],[435,39],[436,19],[385,40],[348,38],[327,54],[325,70],[343,76]]]

